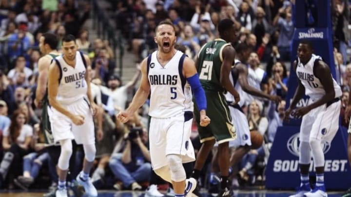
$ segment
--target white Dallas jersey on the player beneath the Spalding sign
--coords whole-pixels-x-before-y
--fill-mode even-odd
[[[306,65],[303,65],[299,58],[297,58],[297,60],[296,75],[300,79],[302,85],[305,87],[306,95],[310,96],[312,99],[320,99],[323,95],[325,95],[325,90],[318,77],[314,75],[313,66],[315,61],[322,60],[322,58],[318,55],[312,54],[310,61]],[[334,79],[333,84],[335,98],[340,97],[342,95],[340,86]]]

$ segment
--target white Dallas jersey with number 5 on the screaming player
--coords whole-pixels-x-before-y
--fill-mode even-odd
[[[147,65],[151,87],[149,115],[155,118],[169,118],[184,111],[193,111],[190,85],[183,76],[185,54],[177,51],[162,67],[157,60],[157,51],[151,54]]]

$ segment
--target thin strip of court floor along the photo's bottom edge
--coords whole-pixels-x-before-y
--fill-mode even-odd
[[[254,191],[234,191],[233,197],[288,197],[292,195],[293,191],[267,191],[267,190],[254,190]],[[38,191],[28,192],[8,192],[0,190],[0,197],[42,197],[44,193]],[[328,192],[329,197],[340,197],[343,192]],[[116,192],[111,190],[99,190],[98,197],[144,197],[145,192],[132,192],[123,191]],[[73,197],[73,196],[72,196]],[[86,197],[86,196],[83,196]],[[207,195],[203,194],[203,197]]]

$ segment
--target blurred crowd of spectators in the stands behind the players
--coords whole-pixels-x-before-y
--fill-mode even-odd
[[[347,54],[351,46],[350,2],[332,2],[336,80],[344,91],[342,106],[345,108],[351,87],[351,61]],[[218,37],[219,20],[232,19],[240,29],[238,41],[232,45],[235,48],[238,43],[245,42],[252,49],[247,62],[243,62],[248,66],[250,85],[283,98],[275,104],[252,97],[243,108],[250,130],[264,136],[264,145],[252,149],[238,166],[233,166],[232,184],[235,187],[263,184],[270,147],[277,127],[283,123],[289,75],[294,74],[290,73],[293,3],[294,0],[109,0],[108,11],[113,12],[111,20],[116,22],[136,63],[133,78],[121,81],[121,76],[115,73],[116,56],[108,40],[91,40],[83,26],[90,17],[89,1],[0,0],[1,165],[11,159],[6,152],[12,144],[20,147],[12,156],[14,160],[8,173],[1,171],[0,165],[0,179],[3,180],[0,189],[42,188],[49,187],[51,182],[55,186],[58,179],[56,164],[46,153],[39,126],[41,109],[33,103],[38,60],[42,55],[39,38],[46,32],[55,33],[59,40],[66,34],[76,36],[78,49],[91,58],[92,91],[103,109],[102,127],[96,120],[97,157],[91,172],[94,184],[98,189],[141,190],[147,187],[152,172],[148,152],[148,105],[141,107],[126,124],[118,122],[116,114],[128,106],[141,75],[138,63],[156,50],[155,28],[165,18],[176,27],[177,44],[194,60],[204,43]],[[60,46],[59,42],[58,50]],[[199,149],[195,124],[192,142],[195,149]],[[77,169],[82,165],[82,158],[82,148],[78,145],[74,157]],[[201,177],[203,187],[208,185],[210,161],[206,162]],[[76,169],[70,171],[78,173]]]

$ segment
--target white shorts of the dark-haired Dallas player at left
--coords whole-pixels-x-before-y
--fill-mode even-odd
[[[70,105],[63,105],[67,110],[76,115],[83,115],[84,124],[75,125],[71,119],[60,113],[54,107],[48,106],[48,114],[55,142],[74,139],[77,144],[94,144],[95,131],[93,114],[89,102],[82,98]]]

